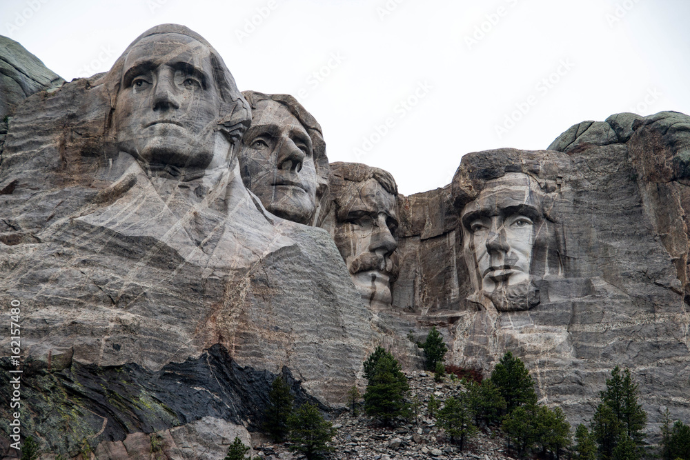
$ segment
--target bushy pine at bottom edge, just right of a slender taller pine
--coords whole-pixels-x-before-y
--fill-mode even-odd
[[[319,409],[311,403],[300,406],[288,418],[290,450],[304,454],[307,460],[317,459],[333,450],[328,442],[335,436],[335,428],[324,420]]]

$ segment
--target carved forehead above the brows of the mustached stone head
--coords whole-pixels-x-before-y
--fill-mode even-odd
[[[352,194],[342,197],[338,210],[338,219],[344,221],[350,213],[379,214],[384,212],[397,219],[397,201],[393,194],[386,192],[376,179],[363,182],[351,182]]]

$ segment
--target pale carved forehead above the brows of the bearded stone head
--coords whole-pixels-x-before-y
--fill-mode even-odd
[[[487,182],[477,198],[466,204],[461,215],[477,212],[497,215],[506,208],[520,206],[541,210],[543,197],[535,179],[520,172],[510,172]]]

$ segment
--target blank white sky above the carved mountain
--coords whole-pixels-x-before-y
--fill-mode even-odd
[[[618,112],[690,113],[689,18],[687,0],[2,0],[0,34],[69,81],[184,24],[240,90],[295,95],[331,161],[384,168],[412,194],[449,183],[467,152],[546,148]]]

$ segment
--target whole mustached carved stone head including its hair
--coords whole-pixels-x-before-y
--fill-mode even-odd
[[[332,163],[333,208],[326,227],[366,306],[391,305],[397,278],[397,185],[390,173],[361,163]]]

